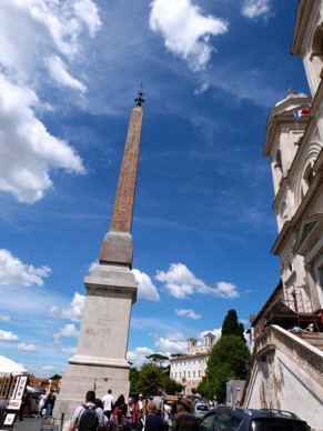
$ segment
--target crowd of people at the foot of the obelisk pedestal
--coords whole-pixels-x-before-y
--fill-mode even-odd
[[[69,431],[198,431],[199,422],[192,413],[193,404],[189,399],[179,398],[169,404],[162,392],[138,401],[131,397],[119,395],[117,400],[112,390],[101,399],[94,391],[88,391],[85,403],[79,405],[71,420]]]

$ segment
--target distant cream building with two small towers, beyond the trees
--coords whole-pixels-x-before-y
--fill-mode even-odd
[[[210,352],[215,344],[215,335],[208,332],[203,335],[204,343],[201,344],[194,338],[188,340],[186,354],[171,358],[171,378],[181,383],[183,393],[192,393],[205,375]]]

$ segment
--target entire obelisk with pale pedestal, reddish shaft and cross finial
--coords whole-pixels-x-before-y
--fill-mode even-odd
[[[68,361],[54,415],[65,410],[71,419],[85,392],[94,390],[102,398],[108,389],[114,397],[129,394],[127,347],[131,307],[137,300],[137,281],[131,272],[131,224],[142,129],[143,92],[139,91],[122,159],[121,172],[109,232],[97,265],[84,278],[84,313],[77,353]],[[67,408],[68,404],[68,408]]]

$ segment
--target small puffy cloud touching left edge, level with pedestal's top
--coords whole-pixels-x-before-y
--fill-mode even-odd
[[[42,285],[50,272],[49,267],[34,268],[22,263],[10,251],[0,249],[0,285]]]

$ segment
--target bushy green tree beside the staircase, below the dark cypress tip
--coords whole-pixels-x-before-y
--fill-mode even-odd
[[[211,351],[205,377],[198,391],[203,397],[216,395],[218,402],[225,402],[226,382],[245,379],[245,363],[249,358],[250,351],[241,337],[221,337]]]

